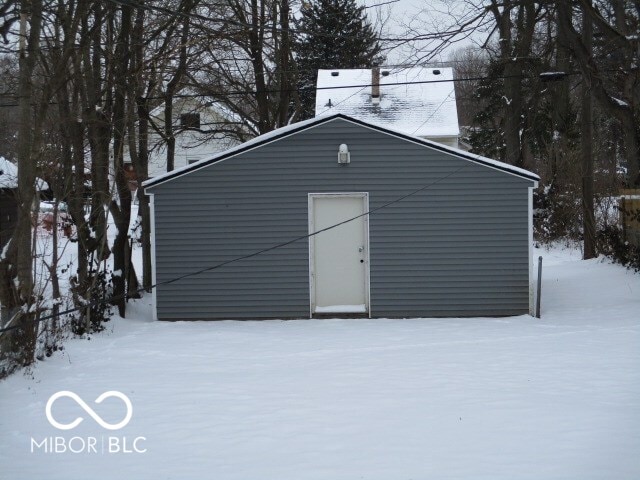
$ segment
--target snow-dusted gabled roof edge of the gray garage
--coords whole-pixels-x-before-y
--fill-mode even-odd
[[[388,128],[383,128],[380,127],[378,125],[375,125],[373,123],[368,123],[368,122],[364,122],[362,120],[358,120],[356,118],[352,118],[352,117],[348,117],[346,115],[343,114],[334,114],[334,115],[325,115],[325,116],[321,116],[321,117],[315,117],[312,118],[310,120],[305,120],[303,122],[298,122],[298,123],[294,123],[292,125],[288,125],[286,127],[282,127],[282,128],[278,128],[277,130],[273,130],[272,132],[266,133],[264,135],[260,135],[259,137],[255,137],[251,140],[249,140],[248,142],[242,143],[236,147],[230,148],[229,150],[226,150],[224,152],[221,152],[219,154],[216,154],[212,157],[200,160],[199,162],[193,163],[191,165],[187,165],[185,167],[182,168],[177,168],[171,172],[167,172],[163,175],[159,175],[155,178],[151,178],[146,180],[145,182],[142,183],[142,186],[147,188],[147,187],[153,187],[156,186],[158,184],[170,181],[176,177],[181,177],[183,175],[189,174],[191,172],[194,172],[196,170],[200,170],[201,168],[207,167],[211,164],[214,163],[218,163],[221,162],[223,160],[227,160],[229,158],[235,157],[243,152],[246,152],[248,150],[252,150],[254,148],[258,148],[262,145],[271,143],[273,141],[279,140],[281,138],[285,138],[291,135],[295,135],[298,132],[304,131],[304,130],[308,130],[311,129],[315,126],[318,125],[322,125],[324,123],[328,123],[328,122],[332,122],[335,120],[346,120],[348,122],[352,122],[358,125],[361,125],[363,127],[367,127],[370,128],[372,130],[376,130],[378,132],[387,134],[387,135],[392,135],[394,137],[397,138],[401,138],[404,139],[406,141],[412,142],[412,143],[416,143],[419,145],[424,145],[427,147],[431,147],[435,150],[440,150],[442,152],[454,155],[458,158],[462,158],[465,160],[469,160],[473,163],[477,163],[480,165],[484,165],[486,167],[490,167],[496,170],[500,170],[506,173],[510,173],[512,175],[516,175],[518,177],[521,178],[525,178],[527,180],[531,180],[534,182],[537,182],[540,180],[540,177],[538,175],[536,175],[535,173],[532,173],[528,170],[525,170],[523,168],[519,168],[519,167],[514,167],[513,165],[509,165],[507,163],[503,163],[503,162],[499,162],[497,160],[492,160],[490,158],[486,158],[486,157],[482,157],[480,155],[475,155],[469,152],[465,152],[464,150],[460,150],[458,148],[453,148],[453,147],[448,147],[446,145],[442,145],[440,143],[437,142],[433,142],[431,140],[425,140],[424,138],[420,138],[420,137],[416,137],[416,136],[412,136],[412,135],[406,135],[402,132],[398,132],[395,130],[391,130]]]

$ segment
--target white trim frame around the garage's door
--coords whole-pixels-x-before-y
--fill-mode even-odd
[[[370,271],[369,271],[369,193],[368,192],[336,192],[336,193],[309,193],[308,194],[308,222],[309,222],[309,318],[312,318],[315,313],[316,307],[316,285],[315,285],[315,226],[313,222],[313,208],[314,200],[316,198],[336,198],[336,197],[350,197],[350,198],[362,198],[363,209],[365,215],[363,215],[364,221],[364,295],[365,295],[365,308],[367,315],[371,318],[371,290],[370,290]]]

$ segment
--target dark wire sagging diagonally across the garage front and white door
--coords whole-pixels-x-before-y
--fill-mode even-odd
[[[366,211],[365,213],[362,213],[362,214],[357,215],[355,217],[349,218],[349,219],[344,220],[342,222],[336,223],[336,224],[331,225],[329,227],[326,227],[326,228],[323,228],[321,230],[309,233],[307,235],[301,235],[299,237],[287,240],[286,242],[278,243],[276,245],[272,245],[271,247],[267,247],[267,248],[264,248],[262,250],[257,250],[255,252],[249,253],[247,255],[241,255],[241,256],[235,257],[235,258],[233,258],[231,260],[226,260],[224,262],[217,263],[217,264],[215,264],[213,266],[209,266],[209,267],[206,267],[206,268],[202,268],[200,270],[196,270],[196,271],[193,271],[193,272],[190,272],[190,273],[186,273],[184,275],[180,275],[179,277],[172,278],[171,280],[165,280],[165,281],[162,281],[162,282],[157,282],[157,283],[151,285],[148,288],[144,288],[144,287],[139,288],[138,290],[135,290],[135,292],[133,292],[133,293],[134,294],[143,293],[143,292],[148,291],[148,290],[153,290],[154,288],[157,288],[157,287],[162,286],[162,285],[170,285],[172,283],[179,282],[180,280],[183,280],[185,278],[194,277],[194,276],[197,276],[197,275],[201,275],[201,274],[203,274],[205,272],[210,272],[210,271],[213,271],[213,270],[217,270],[217,269],[222,268],[222,267],[224,267],[226,265],[229,265],[231,263],[236,263],[236,262],[239,262],[239,261],[242,261],[242,260],[246,260],[246,259],[249,259],[249,258],[257,257],[258,255],[263,255],[263,254],[265,254],[267,252],[271,252],[273,250],[277,250],[279,248],[286,247],[288,245],[291,245],[293,243],[299,242],[301,240],[306,240],[308,238],[315,237],[316,235],[318,235],[320,233],[326,232],[328,230],[332,230],[332,229],[337,228],[337,227],[339,227],[341,225],[344,225],[346,223],[353,222],[354,220],[357,220],[358,218],[361,218],[361,217],[364,217],[364,216],[367,216],[367,215],[371,215],[372,213],[375,213],[375,212],[377,212],[379,210],[382,210],[383,208],[387,208],[387,207],[389,207],[391,205],[394,205],[396,203],[399,203],[399,202],[401,202],[401,201],[403,201],[403,200],[405,200],[405,199],[407,199],[409,197],[412,197],[412,196],[414,196],[414,195],[416,195],[416,194],[418,194],[420,192],[428,190],[429,188],[433,187],[434,185],[437,185],[438,183],[440,183],[440,182],[446,180],[447,178],[455,175],[460,170],[465,168],[466,165],[467,164],[464,164],[461,167],[458,167],[457,169],[455,169],[452,172],[448,173],[447,175],[445,175],[443,177],[440,177],[439,179],[434,180],[433,182],[431,182],[431,183],[429,183],[427,185],[424,185],[424,186],[422,186],[422,187],[420,187],[420,188],[418,188],[416,190],[413,190],[413,191],[411,191],[411,192],[409,192],[409,193],[407,193],[405,195],[402,195],[401,197],[398,197],[398,198],[396,198],[394,200],[391,200],[391,201],[389,201],[387,203],[384,203],[384,204],[382,204],[382,205],[380,205],[380,206],[378,206],[376,208],[371,208],[368,211]],[[130,298],[130,296],[131,296],[130,293],[121,294],[121,295],[114,295],[114,296],[111,296],[109,298],[104,298],[102,300],[95,300],[93,302],[89,302],[86,305],[83,305],[81,307],[74,307],[74,308],[70,308],[70,309],[64,310],[62,312],[58,312],[56,314],[51,314],[51,315],[46,315],[44,317],[36,318],[36,319],[31,320],[31,321],[29,321],[27,323],[33,323],[33,324],[41,323],[41,322],[44,322],[44,321],[47,321],[47,320],[52,320],[54,318],[61,317],[63,315],[67,315],[69,313],[79,312],[79,311],[85,310],[87,308],[97,307],[99,305],[112,303],[112,302],[117,301],[117,300],[128,299],[128,298]],[[25,326],[25,322],[19,323],[19,324],[16,324],[16,325],[9,325],[9,326],[6,326],[4,328],[0,328],[0,334],[2,334],[4,332],[8,332],[10,330],[16,330],[16,329],[22,328],[24,326]]]

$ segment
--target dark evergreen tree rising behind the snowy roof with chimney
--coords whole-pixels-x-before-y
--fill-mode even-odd
[[[378,36],[355,0],[303,2],[296,21],[301,120],[315,115],[316,78],[323,68],[370,68],[384,59]]]

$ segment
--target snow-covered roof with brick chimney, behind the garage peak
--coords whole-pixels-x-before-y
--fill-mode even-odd
[[[316,116],[342,113],[418,137],[459,135],[451,68],[379,68],[379,102],[373,70],[318,70]]]

